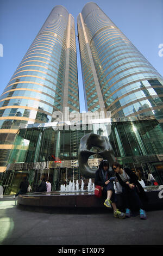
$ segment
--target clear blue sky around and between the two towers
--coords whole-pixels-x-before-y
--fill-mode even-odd
[[[76,21],[87,2],[89,1],[1,0],[0,44],[3,45],[3,57],[0,57],[0,95],[52,8],[58,4],[64,5]],[[159,57],[158,54],[159,44],[163,44],[163,1],[96,0],[95,3],[163,76],[163,57]],[[85,109],[78,39],[77,58],[82,112]]]

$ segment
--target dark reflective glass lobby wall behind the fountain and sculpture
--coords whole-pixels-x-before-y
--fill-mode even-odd
[[[41,125],[40,125],[41,126]],[[80,139],[87,133],[108,137],[116,160],[133,170],[139,179],[150,185],[148,172],[163,182],[163,133],[161,124],[155,119],[137,121],[112,121],[100,127],[96,124],[86,130],[56,130],[56,126],[20,129],[10,153],[7,172],[1,176],[5,193],[15,193],[24,175],[27,175],[33,191],[37,191],[42,178],[49,180],[53,190],[59,190],[65,181],[79,180],[82,173],[78,168]],[[91,151],[90,167],[97,167],[101,161],[99,148]],[[159,158],[160,157],[160,158]]]

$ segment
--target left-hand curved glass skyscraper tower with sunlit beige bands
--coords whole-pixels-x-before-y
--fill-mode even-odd
[[[0,98],[0,172],[18,127],[53,121],[54,111],[79,112],[74,18],[53,8]]]

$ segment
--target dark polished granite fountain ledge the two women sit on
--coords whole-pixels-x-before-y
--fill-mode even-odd
[[[146,191],[148,204],[145,204],[146,210],[163,209],[163,198],[159,198],[160,190]],[[96,198],[94,192],[42,192],[19,195],[17,205],[23,206],[23,209],[33,211],[48,212],[71,212],[85,211],[89,212],[108,212],[104,205],[104,198]],[[122,194],[117,194],[117,207],[123,209]]]

